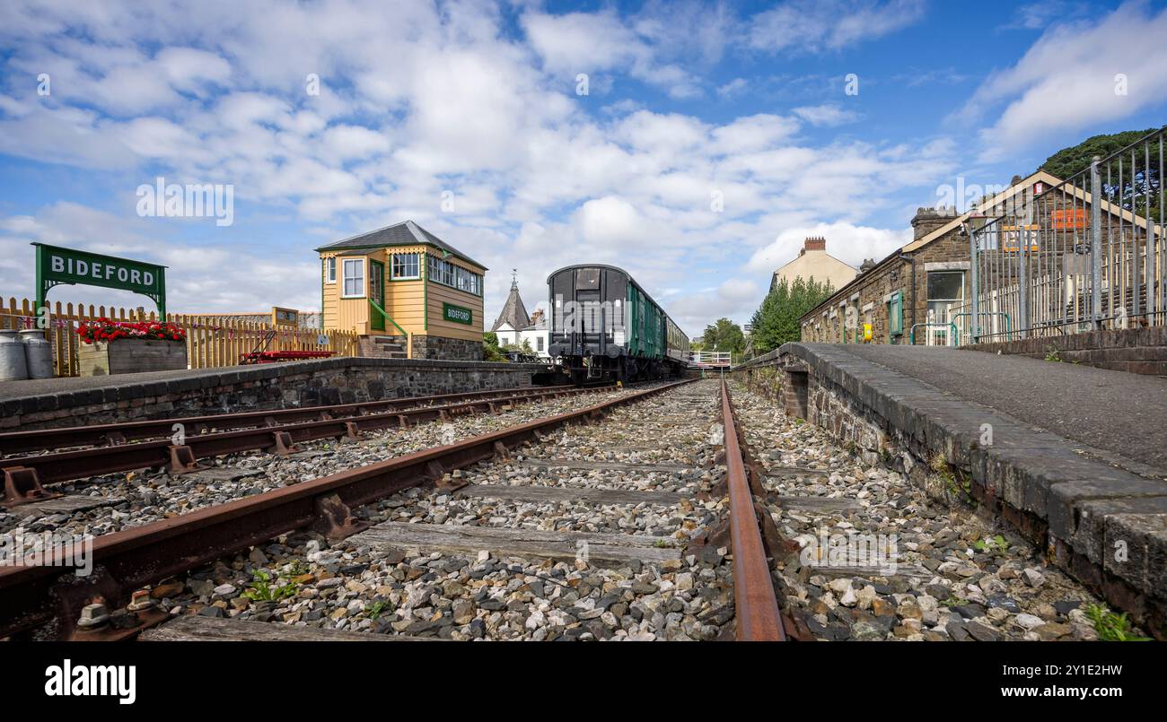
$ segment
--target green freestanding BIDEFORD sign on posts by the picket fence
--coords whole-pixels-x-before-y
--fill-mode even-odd
[[[37,308],[44,306],[44,296],[54,286],[82,283],[140,293],[154,300],[159,318],[166,320],[166,266],[41,243],[33,245]]]

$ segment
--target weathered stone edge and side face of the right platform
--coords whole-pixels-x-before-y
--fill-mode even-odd
[[[946,503],[951,475],[965,500],[1006,520],[1155,637],[1167,636],[1167,482],[1090,458],[1077,453],[1079,443],[833,346],[784,344],[735,372],[775,366],[782,373],[763,374],[763,383],[788,412]],[[981,444],[985,425],[992,444]],[[937,460],[941,471],[931,469]]]

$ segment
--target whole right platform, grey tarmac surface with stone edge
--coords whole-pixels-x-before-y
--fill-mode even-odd
[[[1167,633],[1167,379],[1053,358],[802,343],[734,376],[871,463],[1048,549]]]

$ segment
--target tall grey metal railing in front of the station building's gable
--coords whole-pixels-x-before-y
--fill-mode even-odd
[[[1167,322],[1165,132],[970,218],[973,343]]]

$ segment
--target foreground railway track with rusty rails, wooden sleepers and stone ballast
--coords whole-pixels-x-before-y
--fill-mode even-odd
[[[735,428],[672,384],[124,528],[0,570],[0,635],[781,639]],[[98,597],[138,609],[77,630]]]

